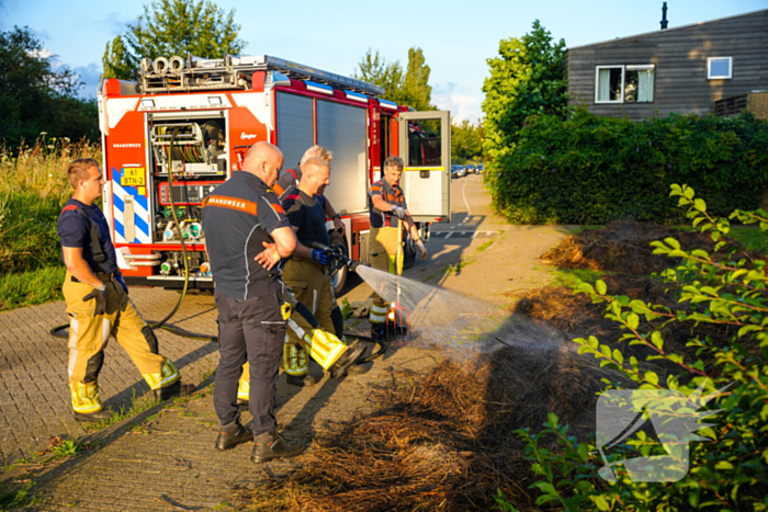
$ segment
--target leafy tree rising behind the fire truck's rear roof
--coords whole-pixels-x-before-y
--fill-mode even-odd
[[[131,78],[129,70],[145,57],[239,55],[246,47],[239,32],[235,10],[226,13],[211,0],[153,0],[125,35],[106,44],[104,77]]]

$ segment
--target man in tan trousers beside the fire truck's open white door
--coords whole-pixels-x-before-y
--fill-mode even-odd
[[[402,269],[402,262],[396,261],[397,243],[400,237],[400,221],[404,221],[410,236],[416,242],[421,260],[427,258],[427,248],[419,236],[419,230],[408,213],[403,190],[398,182],[403,174],[403,159],[387,157],[384,161],[384,179],[371,185],[369,194],[369,212],[371,217],[371,268],[395,274]],[[400,241],[402,243],[402,241]],[[402,248],[400,248],[402,249]],[[403,250],[399,251],[403,258]],[[397,326],[397,331],[404,332],[405,326],[395,318],[394,305],[388,304],[379,294],[373,293],[371,306],[371,337],[381,340],[386,337],[386,320]]]

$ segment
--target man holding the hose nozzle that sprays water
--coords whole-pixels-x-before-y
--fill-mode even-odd
[[[323,330],[330,333],[336,330],[331,319],[336,300],[331,291],[330,275],[326,270],[330,255],[312,248],[313,242],[330,244],[326,229],[326,214],[318,196],[319,190],[330,183],[330,167],[326,160],[310,157],[303,163],[302,171],[298,186],[292,189],[283,201],[291,227],[298,239],[296,250],[283,268],[283,281],[296,300],[312,311]],[[332,340],[318,339],[317,342],[307,343],[305,337],[293,335],[293,329],[289,331],[290,338],[285,344],[283,364],[289,384],[295,386],[315,384],[315,379],[308,374],[307,353],[328,369],[329,366],[324,364],[328,357],[338,357],[337,365],[347,364],[354,362],[364,351],[362,345],[348,348],[337,337],[332,337]]]

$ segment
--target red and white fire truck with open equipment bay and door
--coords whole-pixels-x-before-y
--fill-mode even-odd
[[[296,166],[315,144],[334,152],[325,194],[346,225],[345,249],[362,263],[369,187],[389,155],[406,162],[400,185],[422,235],[429,224],[449,221],[449,113],[413,112],[380,99],[383,93],[270,56],[144,59],[137,81],[104,80],[104,214],[125,281],[180,288],[187,280],[189,288],[213,287],[202,203],[260,140],[280,147],[284,168]],[[406,249],[413,254],[413,247]],[[345,278],[340,272],[337,289]]]

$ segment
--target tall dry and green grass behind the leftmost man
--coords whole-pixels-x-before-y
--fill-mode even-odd
[[[0,311],[60,298],[56,220],[72,192],[67,167],[101,161],[98,145],[42,135],[32,147],[0,147]]]

